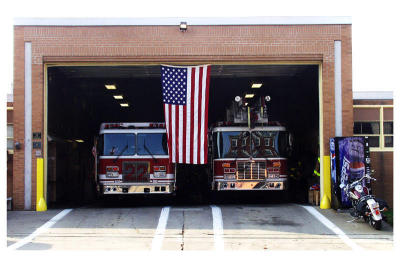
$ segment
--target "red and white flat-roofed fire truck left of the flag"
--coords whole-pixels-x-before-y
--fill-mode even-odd
[[[165,123],[102,123],[94,149],[101,196],[175,191]]]

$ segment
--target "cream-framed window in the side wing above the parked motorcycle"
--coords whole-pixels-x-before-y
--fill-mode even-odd
[[[368,136],[372,151],[393,150],[393,106],[355,105],[355,136]]]

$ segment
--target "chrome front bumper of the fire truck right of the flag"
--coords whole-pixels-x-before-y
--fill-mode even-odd
[[[216,191],[228,191],[228,190],[286,190],[287,179],[267,179],[262,181],[214,181],[212,189]]]

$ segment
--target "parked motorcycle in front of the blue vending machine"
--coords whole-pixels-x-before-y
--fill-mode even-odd
[[[353,210],[350,215],[354,217],[353,220],[363,218],[373,228],[377,230],[382,229],[382,214],[381,212],[387,210],[387,203],[369,193],[368,188],[364,185],[365,179],[374,180],[369,174],[364,175],[362,178],[344,185],[340,184],[340,188],[344,189],[347,197],[351,200]],[[383,207],[380,209],[379,207]]]

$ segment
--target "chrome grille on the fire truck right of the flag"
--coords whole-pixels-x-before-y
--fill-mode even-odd
[[[265,179],[266,177],[266,162],[265,161],[238,161],[236,179],[252,180]]]

